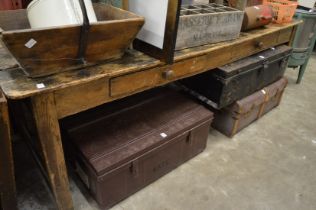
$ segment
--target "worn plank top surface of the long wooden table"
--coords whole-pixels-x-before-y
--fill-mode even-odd
[[[241,33],[240,37],[236,40],[176,51],[175,63],[185,59],[205,55],[229,45],[256,39],[256,37],[261,36],[263,33],[273,33],[282,29],[293,27],[299,23],[300,22],[270,24],[264,28]],[[0,45],[0,86],[7,98],[22,99],[44,92],[88,83],[101,78],[117,77],[164,65],[165,64],[163,62],[149,57],[141,52],[128,50],[124,57],[119,60],[98,64],[96,66],[80,70],[62,72],[46,77],[29,78],[24,74],[21,68],[17,68],[17,62]],[[44,84],[44,87],[43,85],[38,86],[38,84]]]

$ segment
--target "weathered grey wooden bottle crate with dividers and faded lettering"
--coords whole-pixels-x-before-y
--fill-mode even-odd
[[[181,7],[176,50],[239,37],[244,13],[219,4]]]

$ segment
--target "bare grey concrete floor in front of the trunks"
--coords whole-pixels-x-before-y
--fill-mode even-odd
[[[211,130],[204,153],[113,210],[316,209],[315,70],[313,55],[302,84],[296,85],[297,71],[289,69],[278,108],[233,139]],[[22,143],[16,145],[23,149]],[[17,158],[19,208],[55,209],[39,171],[23,154]],[[75,176],[71,190],[76,209],[98,209]]]

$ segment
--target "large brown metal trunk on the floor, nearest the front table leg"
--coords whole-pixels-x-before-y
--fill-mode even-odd
[[[213,114],[173,90],[114,102],[63,126],[76,170],[103,208],[199,154]]]

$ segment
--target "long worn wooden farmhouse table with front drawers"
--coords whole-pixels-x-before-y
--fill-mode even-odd
[[[1,205],[6,210],[12,210],[16,205],[6,101],[9,103],[9,109],[10,103],[29,101],[43,168],[57,207],[60,210],[73,209],[59,127],[60,119],[209,71],[280,44],[291,45],[298,24],[299,22],[271,24],[265,28],[241,33],[241,36],[233,41],[177,51],[172,65],[129,50],[120,60],[36,79],[27,77],[8,52],[0,48],[0,95],[3,96],[0,97]]]

